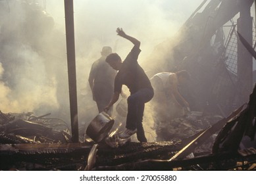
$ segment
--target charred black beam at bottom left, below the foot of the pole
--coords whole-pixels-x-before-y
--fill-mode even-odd
[[[88,143],[0,145],[0,170],[78,170],[90,149]]]

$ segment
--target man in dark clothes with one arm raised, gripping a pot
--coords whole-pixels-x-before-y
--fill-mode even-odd
[[[127,99],[128,113],[126,116],[126,129],[119,134],[119,137],[126,139],[137,133],[138,141],[147,142],[142,126],[142,119],[145,103],[153,98],[153,87],[143,68],[138,64],[138,56],[141,52],[140,41],[125,34],[122,28],[117,28],[116,32],[121,37],[131,41],[134,47],[124,61],[116,53],[112,53],[106,58],[106,62],[117,70],[118,73],[115,77],[112,99],[105,107],[105,110],[109,110],[118,101],[119,95],[122,92],[122,85],[126,85],[130,90],[130,96]]]

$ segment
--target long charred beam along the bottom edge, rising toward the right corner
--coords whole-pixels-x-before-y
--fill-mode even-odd
[[[243,164],[238,165],[239,162]],[[256,154],[242,156],[238,152],[222,152],[182,160],[148,159],[118,166],[96,166],[93,170],[238,170],[238,168],[239,170],[248,170],[255,163]]]

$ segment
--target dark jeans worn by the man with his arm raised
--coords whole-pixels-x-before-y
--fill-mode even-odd
[[[153,89],[144,88],[133,93],[127,99],[128,113],[126,116],[126,128],[132,130],[137,128],[137,139],[140,142],[147,142],[142,126],[142,119],[145,103],[149,102],[153,96]]]

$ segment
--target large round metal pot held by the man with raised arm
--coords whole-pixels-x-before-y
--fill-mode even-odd
[[[115,120],[106,112],[99,113],[89,124],[86,134],[96,143],[101,142],[113,127]]]

